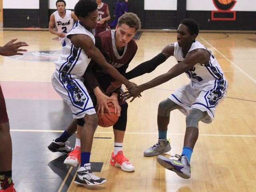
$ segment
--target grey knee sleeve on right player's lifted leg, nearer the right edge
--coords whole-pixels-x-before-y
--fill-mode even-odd
[[[190,113],[186,116],[186,128],[196,127],[198,128],[198,122],[206,116],[207,112],[202,112],[199,109],[192,109]]]

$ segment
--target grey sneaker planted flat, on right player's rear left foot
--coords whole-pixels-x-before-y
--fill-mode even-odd
[[[170,139],[158,139],[158,143],[144,151],[144,156],[152,157],[171,150]]]

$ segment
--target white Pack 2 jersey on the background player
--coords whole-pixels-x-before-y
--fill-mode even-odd
[[[59,15],[58,10],[55,11],[53,14],[55,18],[55,26],[56,26],[57,32],[68,33],[69,30],[74,25],[74,20],[71,16],[71,10],[66,10],[66,15],[64,16],[64,18],[62,18]],[[60,42],[63,42],[64,38],[59,37],[59,40]]]

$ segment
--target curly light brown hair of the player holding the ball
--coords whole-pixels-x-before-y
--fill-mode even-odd
[[[119,19],[118,19],[118,26],[121,26],[122,24],[126,24],[131,28],[135,28],[135,32],[137,32],[141,25],[140,25],[140,19],[138,16],[134,13],[126,13],[123,14]]]

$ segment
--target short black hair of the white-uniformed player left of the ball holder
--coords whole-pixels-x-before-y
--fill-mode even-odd
[[[98,4],[95,0],[79,0],[74,8],[74,13],[77,17],[86,17],[90,12],[95,11]]]

